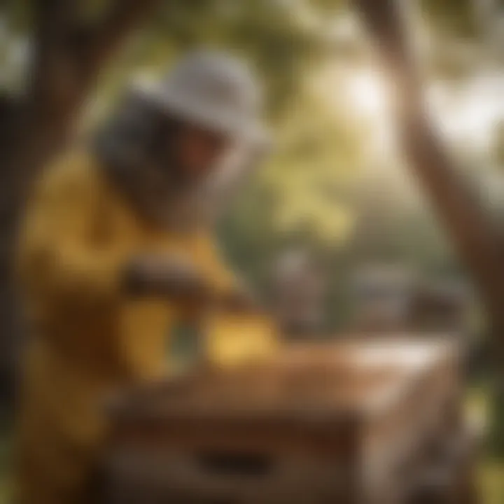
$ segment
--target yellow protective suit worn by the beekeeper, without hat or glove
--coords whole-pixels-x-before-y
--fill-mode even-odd
[[[166,371],[166,338],[179,309],[128,299],[120,289],[126,263],[143,253],[179,253],[217,288],[232,284],[209,237],[149,227],[90,155],[67,155],[46,172],[20,239],[31,334],[20,391],[18,504],[92,502],[86,489],[106,435],[104,399]]]

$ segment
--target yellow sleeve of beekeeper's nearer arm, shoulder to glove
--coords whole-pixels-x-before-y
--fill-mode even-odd
[[[29,202],[20,274],[45,302],[96,303],[118,290],[121,251],[106,228],[103,191],[81,164],[66,160],[50,169]]]

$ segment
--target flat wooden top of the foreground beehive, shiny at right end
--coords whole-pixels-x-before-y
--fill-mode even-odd
[[[343,341],[291,346],[267,363],[201,370],[125,393],[117,421],[298,419],[379,414],[454,355],[446,341]]]

